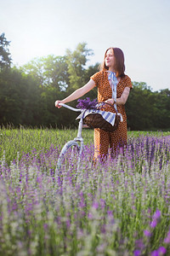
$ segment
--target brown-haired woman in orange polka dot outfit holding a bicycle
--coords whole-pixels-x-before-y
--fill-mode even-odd
[[[94,159],[98,157],[104,159],[108,154],[108,149],[111,148],[111,153],[115,154],[117,147],[123,147],[127,144],[127,116],[125,113],[125,103],[132,88],[131,79],[124,73],[124,55],[122,49],[109,48],[105,51],[105,58],[101,69],[95,73],[88,84],[75,90],[70,96],[62,101],[56,101],[55,107],[60,108],[59,103],[66,103],[76,100],[88,93],[95,86],[98,87],[98,102],[107,102],[116,104],[118,113],[122,113],[123,121],[119,123],[118,129],[113,132],[104,131],[102,129],[94,129]],[[111,89],[111,80],[108,78],[110,73],[116,73],[116,100],[113,99]],[[105,108],[105,111],[113,112],[110,106]]]

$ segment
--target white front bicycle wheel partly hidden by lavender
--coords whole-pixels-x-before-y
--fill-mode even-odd
[[[70,141],[62,148],[57,162],[58,170],[77,169],[80,161],[81,147],[75,141]],[[75,170],[76,171],[76,170]]]

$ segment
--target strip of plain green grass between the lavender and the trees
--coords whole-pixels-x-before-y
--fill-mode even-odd
[[[128,131],[128,137],[139,136],[168,136],[170,131]],[[51,145],[62,148],[64,144],[77,137],[77,130],[71,129],[26,129],[21,126],[20,129],[0,129],[0,159],[3,154],[6,160],[10,161],[16,159],[17,155],[31,153],[35,148],[37,152],[48,150]],[[94,143],[94,131],[91,129],[83,129],[82,137],[84,144]]]

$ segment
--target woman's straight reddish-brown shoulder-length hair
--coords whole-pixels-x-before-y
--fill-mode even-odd
[[[113,47],[110,47],[109,49],[113,49],[113,54],[115,56],[115,59],[116,59],[116,67],[115,67],[115,70],[116,70],[116,77],[124,77],[125,76],[125,64],[124,64],[124,54],[122,52],[122,49],[120,48],[113,48]],[[105,51],[105,57],[106,57],[106,54],[107,54],[107,51],[109,49],[106,49]],[[103,63],[101,64],[100,66],[100,70],[102,71],[105,71],[105,70],[108,70],[109,67],[106,67],[105,66],[105,57],[104,57],[104,61]]]

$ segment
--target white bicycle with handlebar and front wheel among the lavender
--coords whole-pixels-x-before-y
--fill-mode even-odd
[[[69,108],[75,112],[82,113],[83,111],[82,109],[79,109],[79,108],[72,108],[64,103],[59,103],[59,105],[65,108]],[[82,149],[83,149],[83,138],[82,138],[83,126],[87,127],[87,125],[83,125],[83,115],[82,115],[78,124],[77,137],[65,143],[64,147],[61,149],[61,152],[59,154],[59,159],[57,161],[58,171],[61,170],[63,166],[65,166],[65,168],[72,167],[74,163],[76,163],[77,165],[77,170],[79,169],[80,158],[81,158]]]

